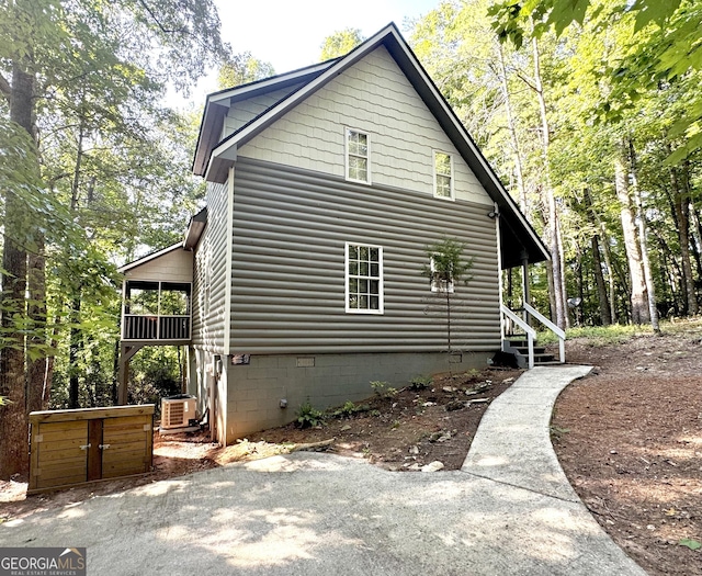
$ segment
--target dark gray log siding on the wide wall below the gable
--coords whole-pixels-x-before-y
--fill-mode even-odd
[[[444,350],[443,298],[420,275],[424,247],[443,236],[464,241],[475,259],[473,280],[454,294],[453,347],[496,350],[497,247],[485,206],[240,158],[230,352]],[[383,246],[382,316],[344,310],[347,241]]]

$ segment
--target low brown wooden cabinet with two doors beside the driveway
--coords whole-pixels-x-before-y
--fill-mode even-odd
[[[27,494],[145,474],[154,461],[154,405],[30,414]]]

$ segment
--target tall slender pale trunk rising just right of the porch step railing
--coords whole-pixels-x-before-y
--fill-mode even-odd
[[[558,226],[558,212],[556,210],[556,199],[554,196],[553,188],[551,184],[551,170],[548,167],[548,148],[551,146],[551,127],[548,125],[548,115],[546,114],[546,99],[544,95],[543,82],[541,78],[541,57],[539,53],[539,41],[534,36],[532,38],[532,55],[534,60],[534,92],[539,100],[539,110],[541,113],[541,144],[543,153],[543,188],[542,194],[544,204],[546,205],[546,221],[547,221],[547,244],[551,250],[551,272],[553,275],[553,304],[555,309],[552,310],[555,314],[555,324],[565,329],[567,327],[567,310],[566,310],[566,297],[564,293],[564,270],[562,267],[562,241],[561,241],[561,227]]]

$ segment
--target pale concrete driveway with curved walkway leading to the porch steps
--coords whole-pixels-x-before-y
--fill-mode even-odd
[[[0,524],[0,546],[86,546],[109,575],[644,575],[569,487],[537,368],[489,407],[462,471],[293,453]]]

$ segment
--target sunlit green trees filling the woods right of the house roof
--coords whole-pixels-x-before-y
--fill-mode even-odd
[[[415,22],[415,52],[541,234],[548,224],[547,168],[562,235],[564,290],[567,297],[581,298],[570,308],[570,321],[638,319],[641,301],[635,310],[632,300],[637,290],[648,297],[652,323],[653,313],[698,309],[702,166],[691,112],[700,98],[699,10],[699,2],[684,0],[526,0],[491,7],[464,0],[442,2]],[[517,33],[517,45],[499,42],[500,35],[514,38]],[[534,37],[548,123],[547,163],[535,98]],[[666,66],[663,55],[672,49],[688,53]],[[615,185],[618,170],[625,189]],[[626,238],[625,219],[634,225]],[[632,242],[642,255],[642,272],[635,274],[632,267],[639,264],[632,263]],[[553,312],[544,271],[532,267],[532,301]]]

